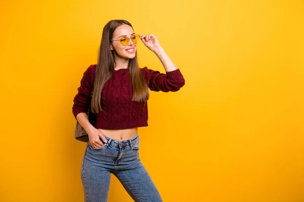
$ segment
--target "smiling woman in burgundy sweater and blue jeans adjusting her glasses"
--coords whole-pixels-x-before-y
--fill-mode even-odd
[[[138,67],[139,39],[160,59],[166,74]],[[85,201],[107,201],[110,173],[134,201],[162,201],[139,159],[137,128],[148,126],[148,88],[177,91],[184,82],[155,35],[136,35],[126,20],[111,20],[104,26],[98,64],[84,72],[72,107],[89,136],[81,166]],[[94,125],[87,116],[91,95]]]

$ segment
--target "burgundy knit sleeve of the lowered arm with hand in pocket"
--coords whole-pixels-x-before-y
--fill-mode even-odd
[[[88,113],[90,101],[91,101],[91,92],[94,82],[94,66],[91,65],[83,74],[83,77],[80,81],[80,87],[78,87],[78,93],[73,99],[72,113],[76,119],[76,116],[81,113]],[[76,119],[77,120],[77,119]]]

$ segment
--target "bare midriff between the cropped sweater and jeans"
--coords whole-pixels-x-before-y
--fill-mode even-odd
[[[132,137],[137,135],[137,128],[128,128],[120,130],[105,130],[98,128],[98,130],[105,136],[118,141],[131,139]]]

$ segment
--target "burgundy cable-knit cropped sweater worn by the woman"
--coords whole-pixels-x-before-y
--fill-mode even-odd
[[[166,74],[147,67],[139,69],[148,88],[153,91],[178,91],[185,84],[179,69],[166,72]],[[72,113],[75,119],[81,112],[88,113],[95,72],[96,65],[91,65],[83,74],[78,94],[73,99]],[[103,86],[101,92],[103,111],[97,114],[94,127],[127,129],[148,126],[147,102],[131,101],[132,96],[129,69],[115,70],[112,77]]]

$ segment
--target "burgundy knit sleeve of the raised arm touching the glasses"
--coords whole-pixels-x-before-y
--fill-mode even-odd
[[[179,69],[160,73],[159,71],[154,71],[148,69],[147,67],[142,68],[144,72],[147,85],[152,91],[178,91],[185,84],[185,79],[183,78]]]

